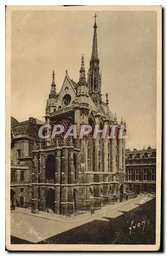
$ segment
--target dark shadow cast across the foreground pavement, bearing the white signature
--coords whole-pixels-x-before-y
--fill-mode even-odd
[[[40,241],[38,244],[155,244],[155,198],[145,204],[137,205],[130,211],[118,210],[123,215],[116,218],[103,217],[104,221],[91,221]],[[11,237],[11,243],[30,244],[31,242],[19,241]]]

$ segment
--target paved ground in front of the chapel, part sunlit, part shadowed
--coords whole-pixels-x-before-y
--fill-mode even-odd
[[[103,212],[98,216],[91,216],[89,219],[75,223],[62,223],[13,211],[11,243],[155,243],[155,199],[140,197],[135,201],[128,200],[128,202],[118,203],[115,206],[116,208],[109,206],[111,210],[106,207],[106,212],[103,207]],[[132,229],[130,230],[131,223]]]

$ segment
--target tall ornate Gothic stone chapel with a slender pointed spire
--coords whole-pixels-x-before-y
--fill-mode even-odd
[[[118,124],[116,115],[102,101],[102,73],[98,57],[96,15],[88,79],[84,56],[81,59],[78,82],[70,79],[67,71],[60,92],[56,91],[55,74],[46,103],[45,124],[58,123],[68,127],[76,124]],[[123,119],[121,124],[125,124]],[[125,192],[125,139],[96,139],[92,133],[80,139],[61,136],[34,143],[32,170],[32,212],[51,210],[58,215],[72,215],[75,211],[93,205],[99,209],[103,203]],[[47,130],[47,133],[50,131]],[[108,128],[109,134],[109,128]],[[126,133],[126,124],[125,131]]]

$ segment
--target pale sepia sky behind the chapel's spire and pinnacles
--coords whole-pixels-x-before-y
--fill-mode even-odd
[[[156,147],[156,12],[98,11],[102,93],[117,120],[126,119],[126,147]],[[11,115],[44,121],[52,72],[57,92],[65,70],[78,82],[81,55],[86,73],[92,49],[92,11],[13,11]]]

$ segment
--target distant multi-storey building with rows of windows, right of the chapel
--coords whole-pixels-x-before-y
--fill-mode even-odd
[[[156,148],[126,150],[126,192],[156,193]]]

